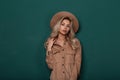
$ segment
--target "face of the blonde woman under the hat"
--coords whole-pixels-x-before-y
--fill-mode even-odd
[[[68,19],[64,19],[60,24],[59,32],[63,35],[66,35],[70,30],[70,21]]]

